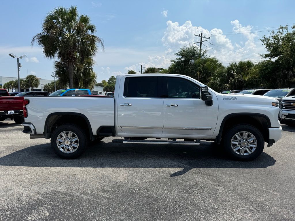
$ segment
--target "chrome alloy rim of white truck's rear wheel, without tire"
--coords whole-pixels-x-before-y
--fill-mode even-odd
[[[78,149],[79,138],[72,131],[63,131],[58,135],[56,145],[63,153],[71,154]]]

